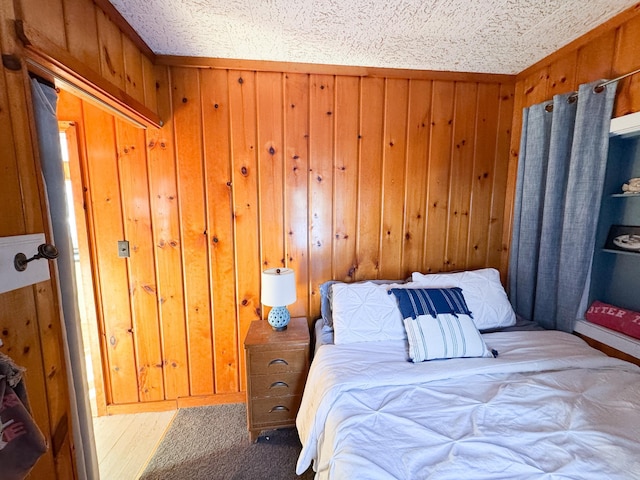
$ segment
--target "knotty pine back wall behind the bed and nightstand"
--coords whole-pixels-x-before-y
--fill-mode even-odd
[[[265,268],[295,270],[311,322],[329,279],[500,267],[509,77],[157,73],[162,129],[58,112],[86,149],[111,411],[242,400]]]

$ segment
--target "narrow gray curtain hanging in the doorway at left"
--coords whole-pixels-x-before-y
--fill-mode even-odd
[[[76,466],[78,477],[97,479],[98,460],[93,438],[91,406],[88,398],[86,365],[80,330],[80,313],[74,275],[73,247],[68,224],[68,212],[62,167],[62,153],[58,133],[56,105],[58,94],[55,89],[31,80],[34,116],[38,132],[38,147],[42,163],[42,173],[47,201],[49,203],[53,243],[59,256],[54,262],[58,272],[59,296],[62,300],[63,333],[65,340],[65,360],[69,375],[69,395],[73,425]]]

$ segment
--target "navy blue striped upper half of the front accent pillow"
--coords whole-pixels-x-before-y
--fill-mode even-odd
[[[420,315],[431,315],[436,318],[442,313],[448,313],[454,317],[463,314],[473,318],[462,295],[462,289],[459,287],[392,288],[389,293],[393,293],[398,299],[402,318],[415,319]]]

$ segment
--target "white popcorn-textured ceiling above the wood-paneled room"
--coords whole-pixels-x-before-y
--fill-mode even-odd
[[[636,0],[110,0],[156,54],[518,73]]]

